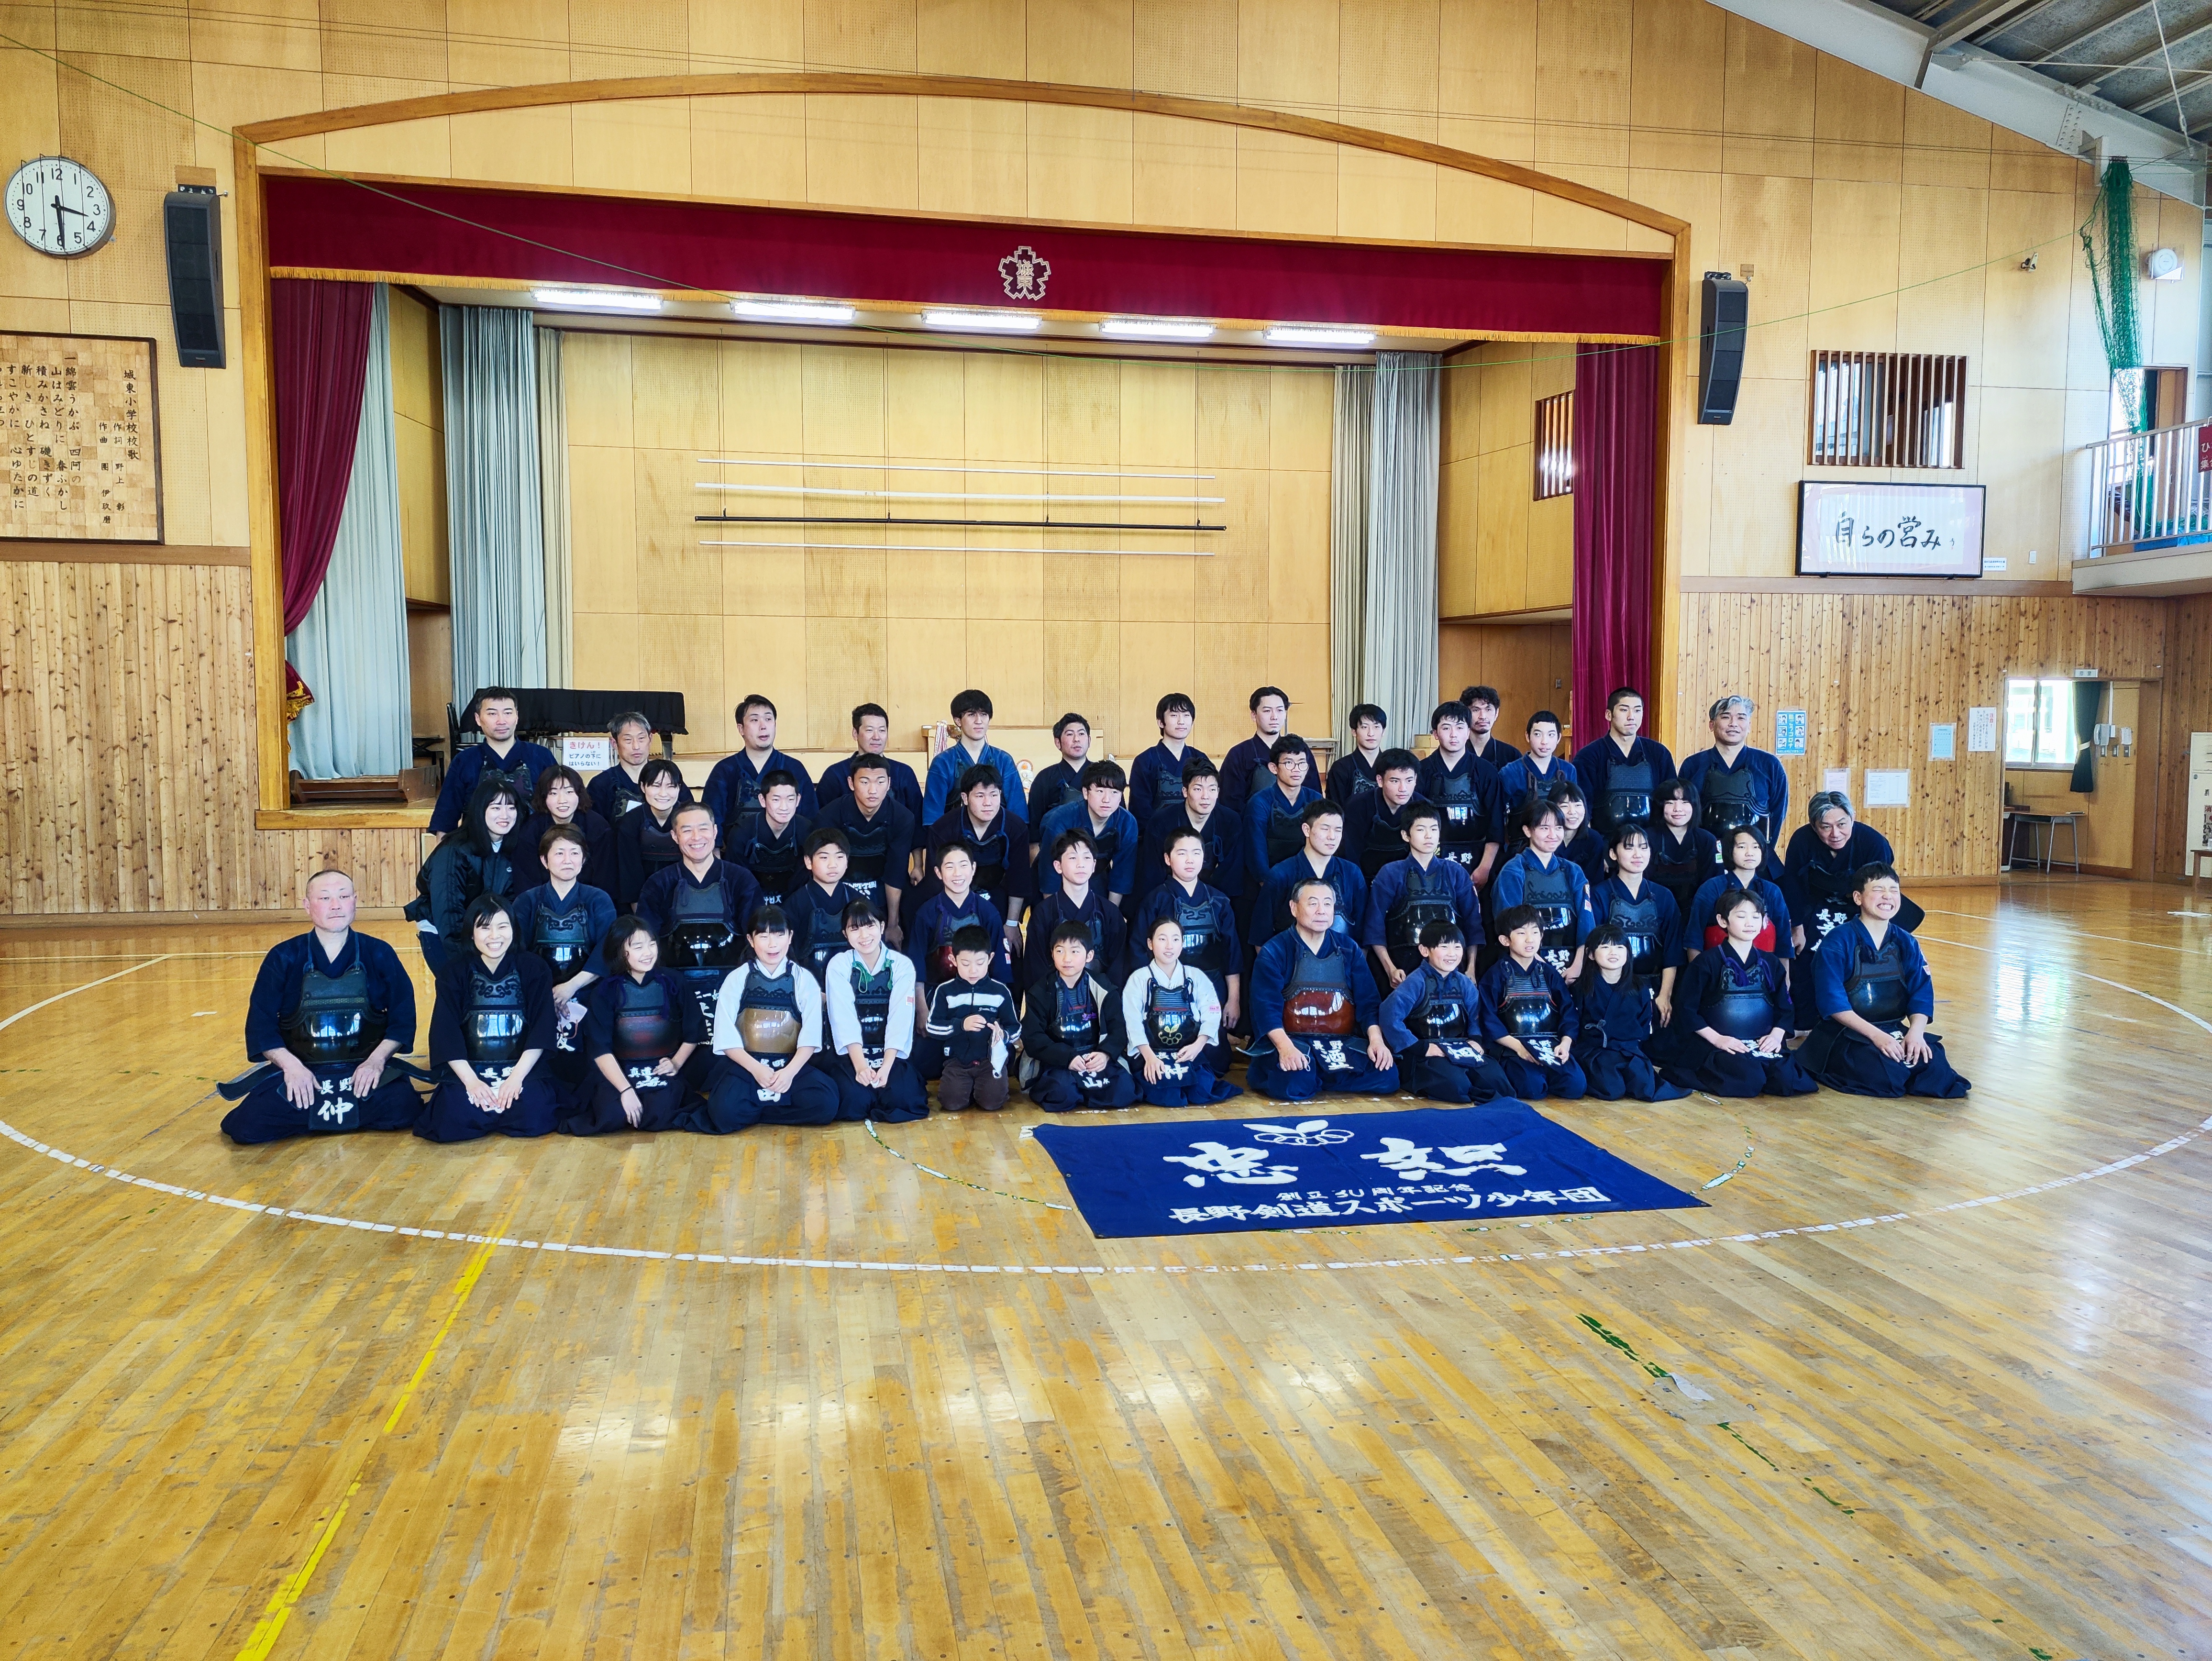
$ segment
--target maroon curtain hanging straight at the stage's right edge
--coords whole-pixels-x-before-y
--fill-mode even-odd
[[[1575,743],[1606,728],[1615,686],[1650,686],[1659,349],[1575,356]]]

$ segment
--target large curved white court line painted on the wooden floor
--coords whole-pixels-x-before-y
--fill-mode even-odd
[[[1969,916],[1969,913],[1949,913]],[[1991,947],[1973,947],[1964,940],[1940,940],[1927,936],[1936,944],[1958,947],[1962,951],[1980,951],[1984,955],[1995,955]],[[124,975],[137,973],[137,969],[150,969],[164,962],[164,958],[150,958],[135,969],[124,969],[102,980],[88,980],[82,986],[71,986],[64,993],[55,993],[29,1009],[20,1009],[7,1020],[0,1020],[0,1031],[7,1031],[24,1015],[35,1015],[46,1009],[46,1004],[58,1004],[75,993],[91,991],[93,986],[104,986],[111,980],[122,980]],[[2079,973],[2079,971],[2068,971]],[[2095,980],[2099,986],[2115,986],[2126,993],[2135,993],[2159,1009],[2168,1009],[2181,1020],[2203,1028],[2212,1035],[2212,1022],[2205,1022],[2179,1004],[2170,1004],[2163,997],[2154,997],[2137,986],[2128,986],[2119,980],[2106,980],[2101,975],[2081,975],[2084,980]],[[82,1159],[62,1148],[49,1148],[44,1141],[24,1135],[15,1126],[0,1119],[0,1137],[29,1148],[31,1152],[44,1155],[62,1166],[73,1166],[91,1177],[106,1177],[108,1181],[126,1183],[131,1188],[146,1188],[155,1194],[168,1194],[173,1199],[201,1201],[206,1205],[223,1205],[237,1212],[250,1212],[285,1223],[316,1223],[323,1228],[354,1228],[367,1234],[405,1234],[420,1241],[453,1241],[465,1245],[504,1245],[522,1252],[566,1252],[571,1256],[626,1256],[626,1258],[648,1258],[655,1263],[723,1263],[732,1267],[754,1267],[754,1270],[874,1270],[880,1274],[1274,1274],[1274,1272],[1332,1272],[1332,1270],[1413,1270],[1413,1267],[1444,1267],[1460,1263],[1557,1263],[1566,1258],[1606,1258],[1606,1256],[1646,1256],[1652,1252],[1690,1252],[1705,1245],[1756,1245],[1761,1241],[1783,1241],[1798,1234],[1840,1234],[1845,1230],[1871,1228],[1876,1223],[1905,1223],[1913,1219],[1942,1216],[1947,1212],[1969,1212],[1980,1205],[2002,1205],[2006,1201],[2026,1199],[2031,1194],[2048,1194],[2057,1188],[2070,1188],[2073,1183],[2097,1181],[2099,1177],[2112,1177],[2124,1170],[2132,1170],[2150,1159],[2170,1155],[2177,1148],[2203,1137],[2212,1130],[2212,1117],[2199,1121],[2192,1130],[2183,1130],[2179,1137],[2168,1137],[2157,1148],[2143,1148],[2141,1152],[2126,1155],[2124,1159],[2112,1159],[2104,1166],[2090,1170],[2077,1170],[2070,1177],[2053,1177],[2046,1183],[2031,1183],[2028,1188],[2013,1188],[2004,1194],[1980,1194],[1975,1199],[1958,1199],[1949,1205],[1936,1205],[1927,1212],[1882,1212],[1876,1216],[1854,1216],[1847,1223],[1805,1223],[1798,1228],[1767,1228],[1750,1234],[1710,1234],[1692,1241],[1646,1241],[1639,1245],[1571,1245],[1553,1252],[1491,1252],[1491,1254],[1469,1254],[1469,1256],[1394,1256],[1394,1258],[1336,1258],[1336,1261],[1314,1261],[1314,1263],[889,1263],[874,1258],[812,1258],[812,1256],[734,1256],[723,1252],[657,1252],[650,1247],[635,1245],[584,1245],[575,1241],[526,1241],[507,1234],[449,1234],[436,1228],[407,1228],[400,1223],[369,1223],[358,1216],[325,1216],[321,1212],[299,1212],[285,1210],[283,1205],[259,1205],[250,1199],[230,1199],[226,1194],[208,1194],[197,1188],[177,1188],[175,1183],[161,1183],[153,1177],[135,1177],[126,1170],[115,1170],[113,1166],[100,1166],[91,1159]],[[1606,1216],[1608,1212],[1568,1212],[1564,1216]]]

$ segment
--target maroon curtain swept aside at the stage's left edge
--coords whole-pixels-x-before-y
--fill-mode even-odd
[[[361,385],[369,367],[376,283],[270,281],[270,372],[276,383],[276,533],[283,628],[307,617],[354,478]]]

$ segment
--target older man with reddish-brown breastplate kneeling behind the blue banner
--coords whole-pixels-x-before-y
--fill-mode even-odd
[[[1336,889],[1303,878],[1290,896],[1296,927],[1265,947],[1252,969],[1252,1066],[1245,1086],[1276,1101],[1312,1101],[1323,1090],[1396,1095],[1398,1059],[1383,1040],[1383,1000],[1367,953],[1336,929]]]

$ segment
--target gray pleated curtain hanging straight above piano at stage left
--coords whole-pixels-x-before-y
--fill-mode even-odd
[[[453,708],[546,683],[546,555],[531,314],[440,305],[445,502],[453,551]]]

